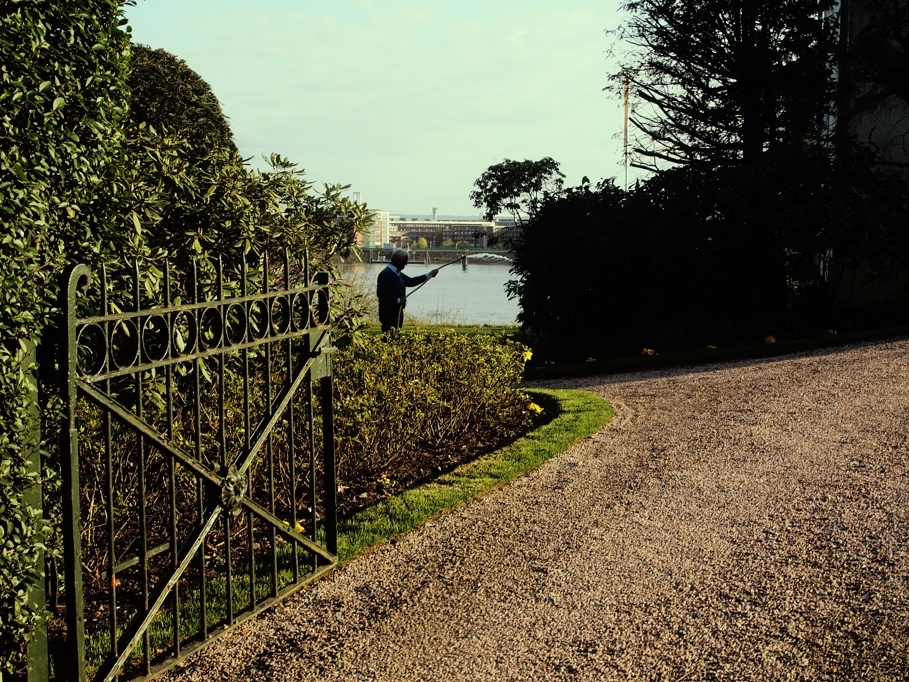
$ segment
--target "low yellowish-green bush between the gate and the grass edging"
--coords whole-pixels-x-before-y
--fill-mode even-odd
[[[389,474],[426,451],[482,447],[529,424],[517,388],[526,347],[504,336],[418,330],[339,351],[335,437],[342,481]]]

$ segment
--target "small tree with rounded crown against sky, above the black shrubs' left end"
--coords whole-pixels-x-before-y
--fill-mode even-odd
[[[507,211],[522,225],[536,215],[547,196],[562,191],[564,177],[558,162],[548,156],[539,161],[505,159],[483,172],[470,199],[474,206],[485,209],[485,220]]]

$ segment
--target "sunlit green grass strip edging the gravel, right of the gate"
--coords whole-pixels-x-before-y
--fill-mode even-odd
[[[612,407],[587,391],[533,389],[527,393],[556,417],[514,443],[467,462],[419,487],[363,509],[339,524],[341,564],[538,467],[612,418]]]

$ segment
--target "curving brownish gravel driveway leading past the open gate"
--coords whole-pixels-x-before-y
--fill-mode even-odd
[[[616,418],[168,679],[909,679],[909,341],[550,385]]]

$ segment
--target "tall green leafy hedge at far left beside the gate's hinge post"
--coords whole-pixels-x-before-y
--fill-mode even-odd
[[[0,8],[0,672],[22,666],[42,617],[26,599],[46,540],[28,435],[37,343],[64,261],[112,248],[127,112],[128,36],[116,0],[8,0]]]

